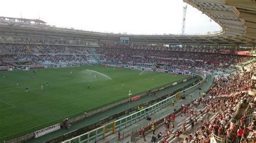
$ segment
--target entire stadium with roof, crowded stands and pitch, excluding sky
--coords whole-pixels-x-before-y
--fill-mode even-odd
[[[221,31],[0,17],[0,142],[256,142],[256,2],[184,2]]]

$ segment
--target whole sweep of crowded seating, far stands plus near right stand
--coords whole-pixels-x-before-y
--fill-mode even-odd
[[[247,92],[251,87],[248,81],[252,78],[252,74],[235,69],[236,65],[250,60],[250,56],[223,54],[217,50],[207,51],[207,48],[204,52],[196,52],[182,51],[181,47],[163,50],[165,47],[104,44],[99,47],[7,43],[0,45],[2,52],[0,70],[8,70],[13,64],[20,62],[32,62],[35,65],[119,62],[130,65],[154,63],[172,68],[208,71],[214,77],[215,86],[208,92],[207,97],[196,99],[193,106],[184,111],[188,113],[188,118],[183,119],[182,124],[175,123],[176,127],[172,131],[160,131],[162,135],[156,139],[159,142],[209,142],[214,137],[219,141],[232,142],[240,139],[240,136],[236,135],[238,126],[250,128],[244,133],[242,140],[246,140],[250,131],[254,131],[252,120],[239,119],[242,112],[240,106],[244,108],[246,105],[254,106],[252,105],[253,97],[249,97]],[[252,71],[254,71],[253,68]],[[197,110],[199,100],[203,104],[199,106],[201,109]],[[189,113],[191,109],[193,113]],[[203,123],[199,123],[201,119],[204,120]],[[166,120],[169,119],[166,118]],[[233,123],[233,120],[246,120],[246,123],[249,123],[245,125],[239,124],[238,121]],[[195,124],[196,132],[194,133],[187,130],[191,128],[191,122]],[[166,124],[170,126],[171,122],[168,121]],[[147,137],[147,140],[148,138],[151,137]]]

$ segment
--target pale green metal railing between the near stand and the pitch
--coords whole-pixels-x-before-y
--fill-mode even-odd
[[[204,73],[201,72],[197,72],[197,74],[203,75],[204,79],[197,83],[196,85],[194,85],[193,87],[190,87],[188,89],[185,89],[183,91],[181,91],[181,93],[183,95],[188,95],[191,92],[197,90],[199,87],[201,87],[201,85],[204,84],[204,82],[206,81],[206,76]],[[160,101],[156,104],[153,104],[143,110],[140,110],[136,113],[132,113],[129,116],[126,116],[122,119],[118,119],[116,121],[114,121],[114,131],[120,131],[123,130],[126,127],[131,126],[134,123],[137,123],[138,121],[145,119],[146,117],[152,115],[153,113],[158,112],[161,109],[164,109],[166,106],[171,105],[172,104],[172,99],[176,99],[176,95],[173,95],[171,97],[168,97],[166,99],[163,99],[163,101]],[[84,133],[82,135],[79,135],[75,138],[63,141],[64,143],[68,143],[68,142],[97,142],[100,139],[103,139],[104,137],[111,135],[113,133],[113,131],[105,131],[104,128],[106,127],[106,125],[101,126],[96,128],[95,130],[89,131],[87,133]]]

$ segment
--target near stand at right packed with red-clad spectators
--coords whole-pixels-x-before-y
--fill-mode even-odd
[[[252,69],[254,66],[251,64],[249,67]],[[156,142],[210,142],[213,138],[217,142],[254,142],[252,134],[256,128],[252,112],[255,111],[255,102],[254,96],[248,93],[252,87],[248,81],[252,77],[253,73],[239,70],[228,76],[219,75],[219,80],[214,80],[215,85],[206,97],[199,96],[188,108],[182,105],[181,113],[176,116],[178,122],[173,122],[171,115],[167,116],[156,129],[156,133],[161,135],[154,135],[149,130],[146,140],[151,141],[153,135]],[[199,101],[201,104],[195,107]],[[185,118],[182,117],[184,115]],[[172,123],[175,128],[171,128]],[[167,124],[171,129],[167,129]],[[241,134],[238,133],[240,131]],[[144,142],[142,140],[142,136],[137,139]]]

